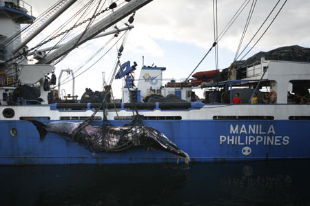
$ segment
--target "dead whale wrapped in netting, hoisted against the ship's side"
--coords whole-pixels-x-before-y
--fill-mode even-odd
[[[37,120],[30,120],[30,122],[37,127],[41,141],[50,132],[70,137],[92,152],[121,152],[136,146],[145,146],[172,153],[177,157],[185,157],[185,161],[189,161],[187,153],[180,150],[163,133],[144,124],[102,127],[85,124],[85,122],[57,121],[48,124]]]

